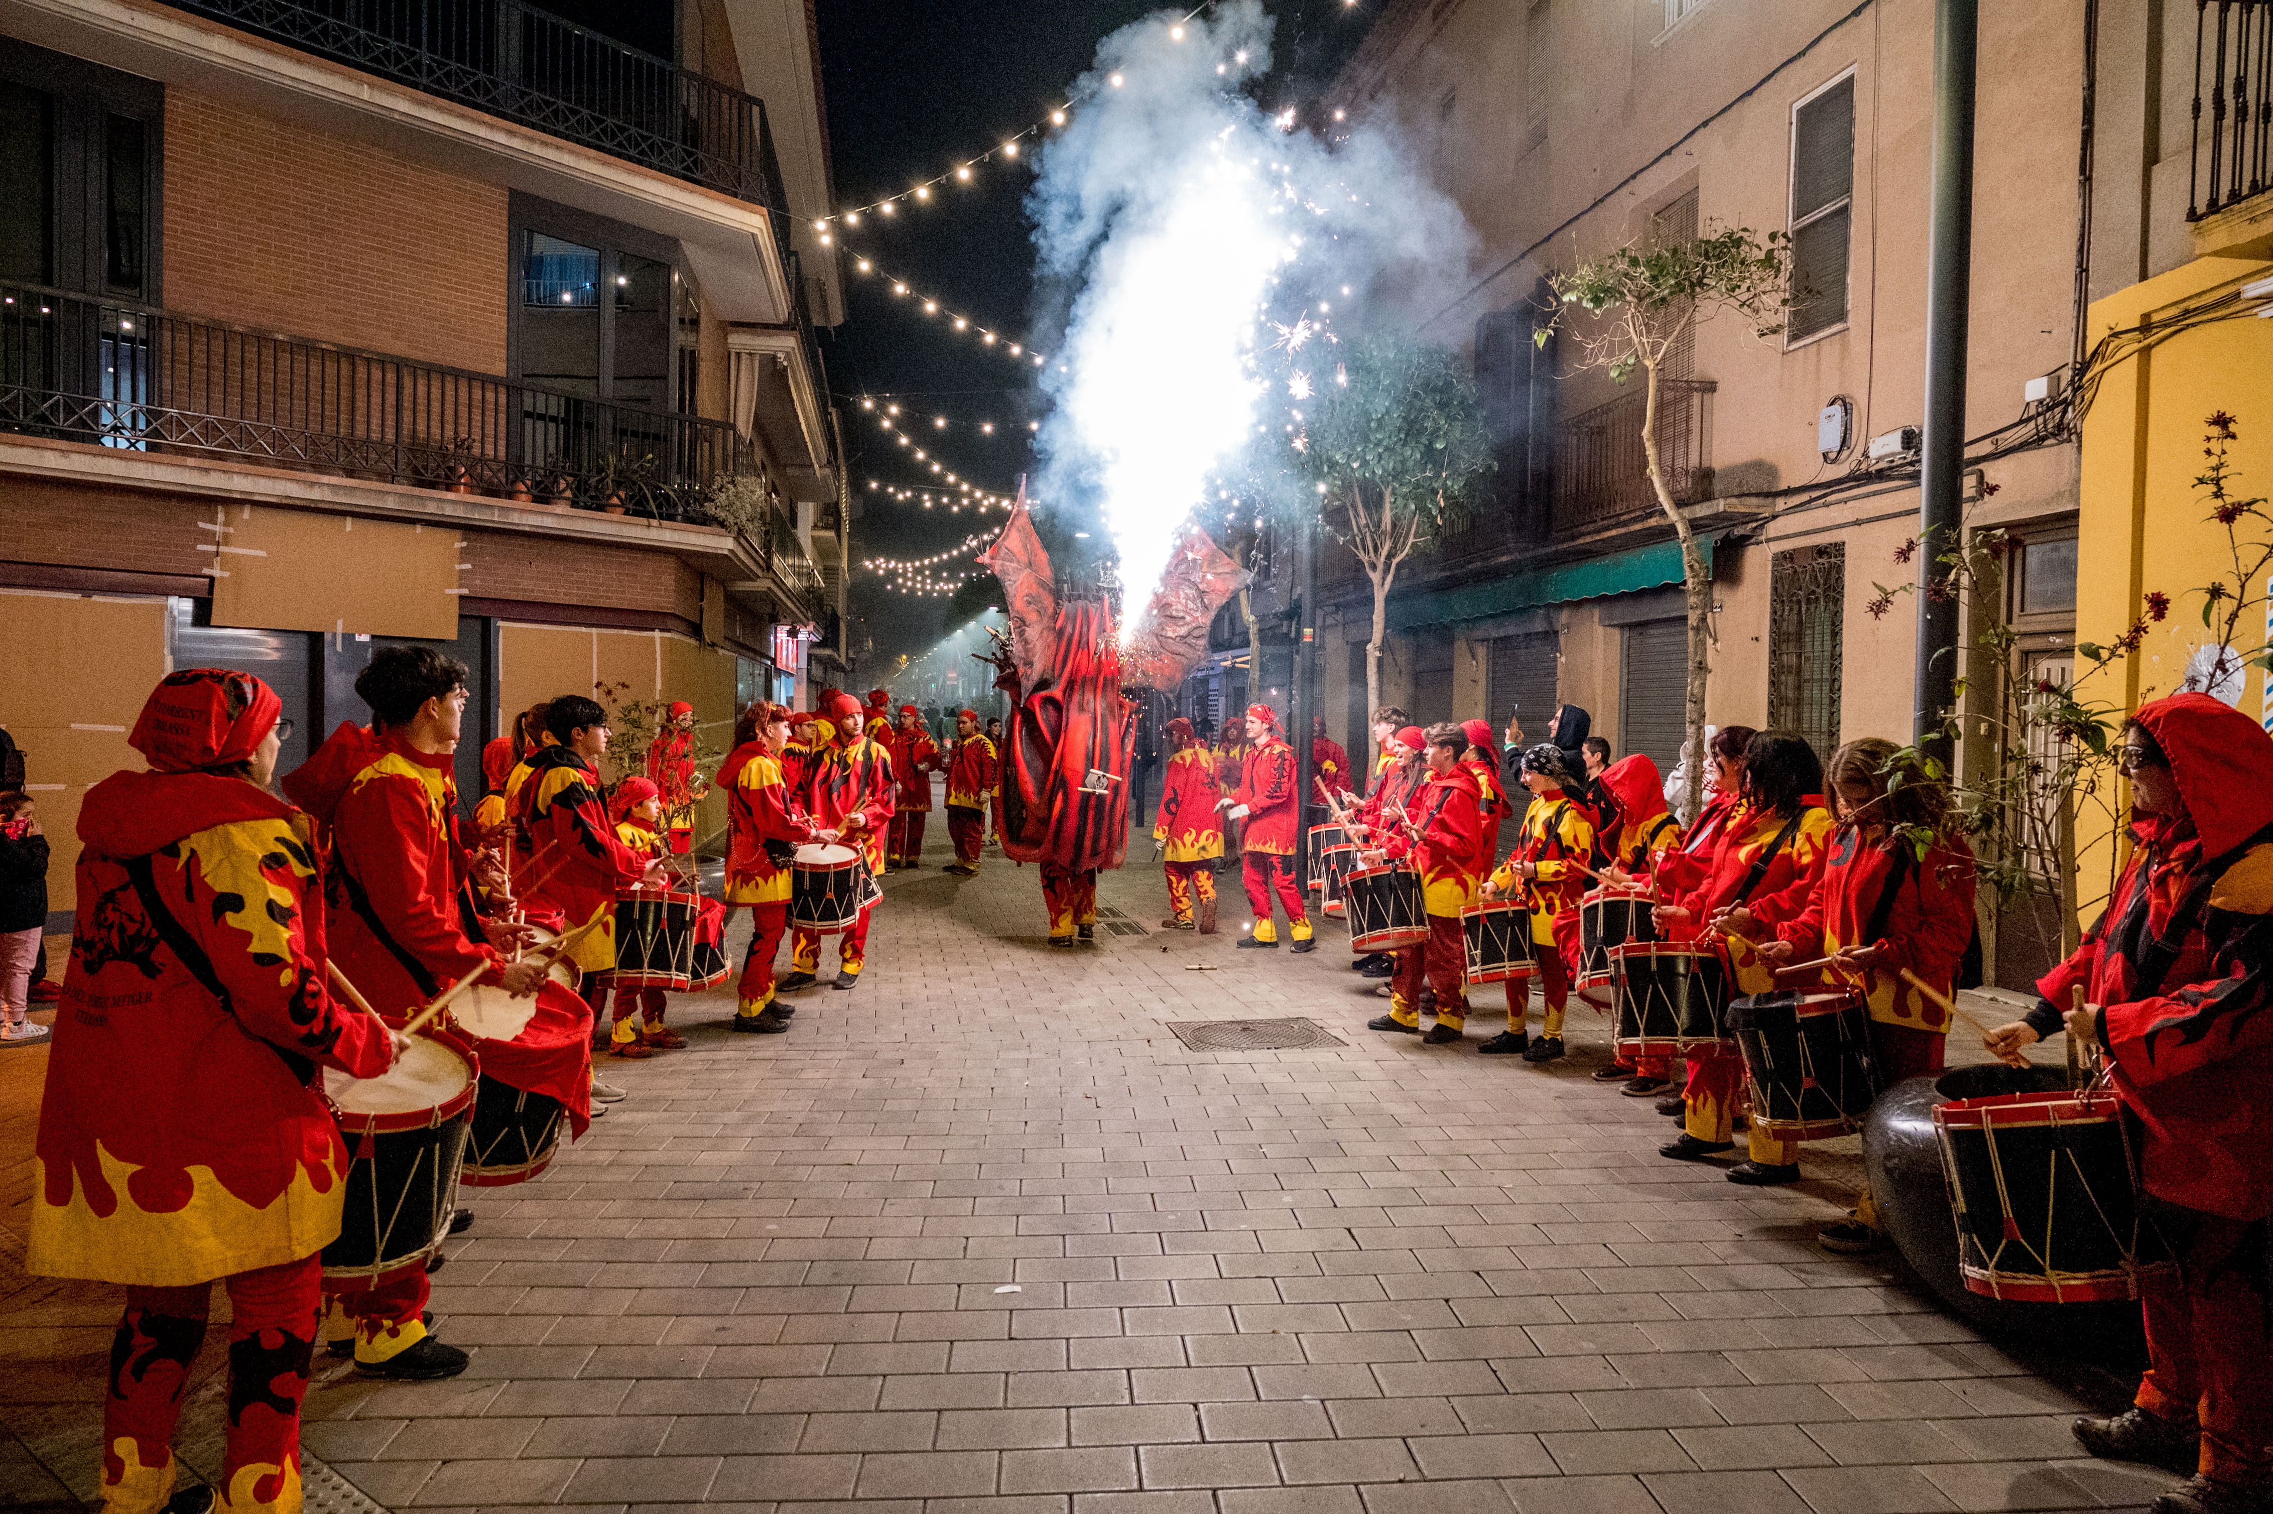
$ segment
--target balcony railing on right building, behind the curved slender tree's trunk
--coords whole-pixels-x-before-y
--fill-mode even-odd
[[[1712,380],[1657,380],[1657,461],[1677,505],[1712,486]],[[1648,396],[1632,393],[1580,411],[1555,439],[1555,534],[1575,536],[1630,516],[1657,511],[1641,416]]]

